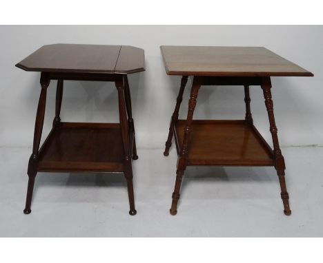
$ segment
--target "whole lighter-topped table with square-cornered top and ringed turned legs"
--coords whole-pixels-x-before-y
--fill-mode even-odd
[[[273,166],[280,180],[285,215],[291,215],[285,184],[285,163],[277,137],[271,97],[271,76],[313,76],[311,72],[266,48],[161,46],[166,73],[182,76],[177,103],[170,120],[164,156],[175,137],[178,154],[175,189],[170,214],[176,215],[182,177],[188,165]],[[193,85],[186,120],[179,120],[188,76]],[[202,85],[242,85],[244,120],[193,120]],[[268,112],[273,149],[253,125],[249,86],[260,85]]]

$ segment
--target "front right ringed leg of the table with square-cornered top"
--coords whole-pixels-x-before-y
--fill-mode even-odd
[[[284,204],[285,215],[291,215],[291,209],[289,208],[289,196],[286,189],[285,182],[285,161],[282,156],[282,151],[280,150],[280,144],[278,142],[277,127],[275,125],[275,116],[273,113],[273,101],[271,98],[271,78],[263,78],[262,80],[262,90],[264,92],[264,99],[266,104],[266,109],[268,112],[268,118],[270,123],[271,136],[273,138],[273,152],[275,158],[275,169],[277,171],[277,176],[280,179],[280,189],[281,197]]]

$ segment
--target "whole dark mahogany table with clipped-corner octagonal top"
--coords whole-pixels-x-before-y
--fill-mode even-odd
[[[38,171],[121,172],[127,180],[130,215],[135,215],[132,159],[138,158],[127,74],[144,71],[144,50],[125,45],[44,45],[17,67],[41,72],[34,143],[28,164],[26,208],[30,213]],[[46,92],[57,80],[56,109],[52,129],[39,149]],[[63,81],[112,81],[119,98],[120,123],[61,122]]]

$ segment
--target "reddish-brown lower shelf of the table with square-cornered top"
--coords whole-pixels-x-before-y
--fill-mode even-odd
[[[186,120],[174,127],[177,154]],[[188,165],[273,166],[271,147],[253,125],[244,120],[193,120],[188,141]]]

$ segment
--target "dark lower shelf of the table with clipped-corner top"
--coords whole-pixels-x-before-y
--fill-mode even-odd
[[[123,171],[119,123],[61,123],[39,151],[38,171]]]

